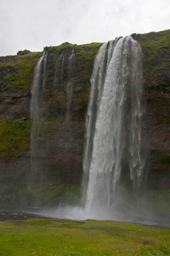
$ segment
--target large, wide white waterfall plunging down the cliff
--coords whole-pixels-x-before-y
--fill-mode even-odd
[[[129,166],[131,189],[135,191],[141,184],[142,60],[140,45],[131,36],[104,43],[96,56],[83,160],[82,202],[86,212],[112,213],[123,207],[124,162]]]

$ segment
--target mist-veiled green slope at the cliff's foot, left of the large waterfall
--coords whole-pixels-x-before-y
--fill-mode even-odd
[[[28,181],[29,175],[26,174]],[[42,178],[42,177],[41,177]],[[47,177],[46,177],[47,178]],[[48,180],[52,180],[52,185],[48,181],[39,182],[34,176],[33,183],[27,184],[27,181],[1,184],[0,188],[0,206],[1,209],[8,207],[45,207],[56,208],[65,204],[77,205],[80,202],[80,187],[72,184],[57,182],[57,179],[48,175]],[[50,182],[51,183],[51,182]]]

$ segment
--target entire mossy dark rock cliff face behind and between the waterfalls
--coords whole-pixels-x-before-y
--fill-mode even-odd
[[[132,34],[132,37],[139,41],[144,54],[146,111],[142,147],[150,151],[147,160],[151,177],[149,186],[170,187],[170,30]],[[44,48],[48,53],[45,76],[43,65],[40,74],[41,82],[42,79],[45,81],[45,96],[41,102],[37,138],[39,151],[35,156],[41,170],[37,180],[44,175],[45,179],[54,180],[56,185],[81,183],[90,77],[101,45],[66,42]],[[69,69],[73,47],[74,65]],[[20,187],[25,186],[28,173],[33,172],[30,161],[30,101],[34,68],[42,54],[25,50],[15,56],[0,57],[0,182],[10,183],[12,188],[19,183],[22,183]],[[68,118],[67,88],[70,83],[72,96]],[[14,197],[4,199],[6,205],[15,202]]]

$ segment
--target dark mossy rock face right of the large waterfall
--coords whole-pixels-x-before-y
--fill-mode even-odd
[[[164,188],[170,187],[170,30],[138,35],[144,54],[144,87],[146,111],[143,120],[143,147],[149,148],[153,186],[164,177]],[[161,174],[160,174],[161,173]],[[160,176],[159,176],[160,174]],[[159,179],[157,177],[159,176]],[[161,181],[160,181],[161,180]],[[166,185],[165,185],[166,183]]]

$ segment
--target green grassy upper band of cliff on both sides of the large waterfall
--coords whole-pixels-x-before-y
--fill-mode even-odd
[[[144,53],[144,84],[147,89],[157,87],[160,84],[168,87],[170,76],[170,29],[160,32],[138,34],[137,40],[142,46]],[[74,47],[74,54],[81,57],[78,62],[85,62],[91,58],[91,62],[102,43],[70,44],[65,42],[58,46],[46,46],[54,60],[64,50],[71,51]],[[42,52],[30,52],[25,55],[14,55],[0,57],[0,90],[24,90],[29,91],[33,79],[33,68],[42,55]],[[79,68],[82,64],[78,63]],[[80,70],[79,70],[80,71]],[[81,72],[80,72],[81,73]],[[167,88],[166,88],[167,89]]]

